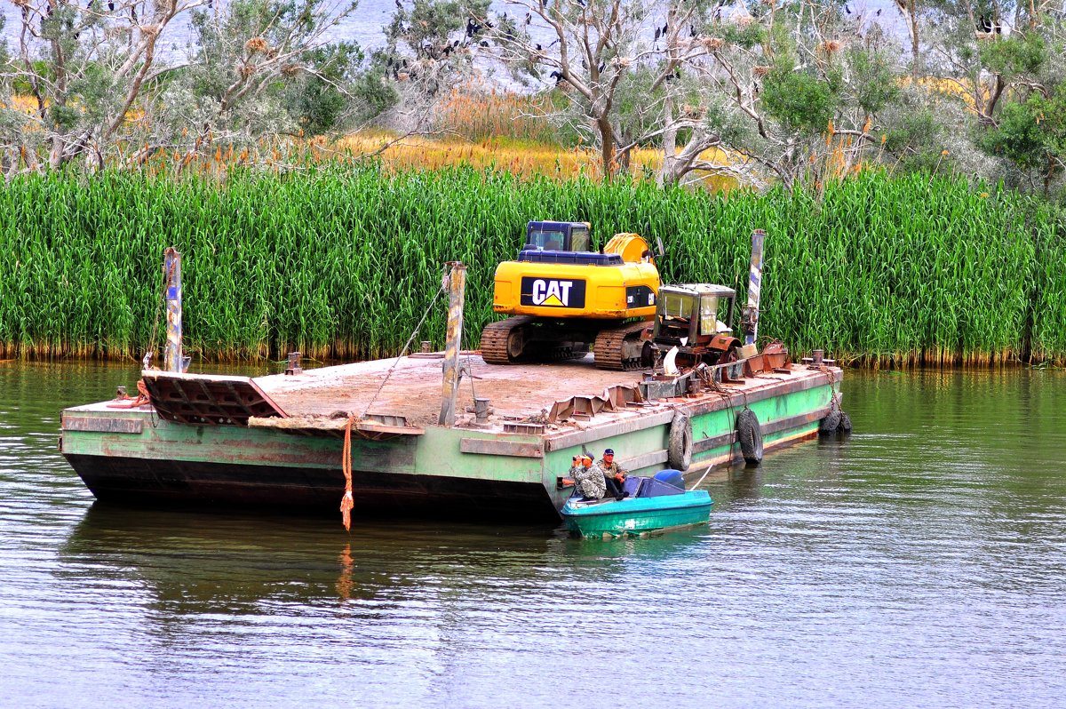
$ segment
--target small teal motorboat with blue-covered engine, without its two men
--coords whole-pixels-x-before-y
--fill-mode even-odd
[[[687,492],[678,470],[630,478],[624,489],[621,500],[571,497],[562,510],[566,527],[581,536],[640,535],[700,525],[711,515],[711,496],[706,490]]]

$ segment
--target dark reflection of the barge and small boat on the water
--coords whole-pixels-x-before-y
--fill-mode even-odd
[[[402,603],[427,590],[508,593],[566,580],[611,582],[631,564],[683,555],[706,527],[615,542],[570,538],[560,526],[353,525],[321,519],[95,503],[62,546],[55,574],[85,586],[135,582],[166,614],[261,612],[262,603]]]

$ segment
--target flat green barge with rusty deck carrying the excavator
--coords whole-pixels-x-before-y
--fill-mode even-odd
[[[741,460],[745,407],[768,450],[815,436],[841,380],[788,361],[743,376],[741,360],[725,381],[663,391],[591,359],[494,367],[464,354],[450,425],[439,354],[256,378],[148,370],[147,403],[64,410],[61,450],[100,500],[335,515],[353,419],[353,516],[558,520],[571,493],[560,478],[582,450],[613,448],[634,474],[683,462],[698,474]]]

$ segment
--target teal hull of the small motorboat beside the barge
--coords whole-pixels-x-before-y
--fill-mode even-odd
[[[647,534],[700,525],[711,514],[711,496],[705,490],[650,498],[627,498],[582,503],[568,500],[563,519],[574,534],[585,537]]]

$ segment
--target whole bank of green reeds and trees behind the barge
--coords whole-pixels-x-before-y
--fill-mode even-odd
[[[392,353],[451,259],[473,344],[492,269],[561,219],[741,290],[768,229],[762,333],[798,351],[1066,360],[1049,3],[398,0],[370,51],[351,2],[15,4],[4,356],[140,357],[167,245],[206,357]]]

